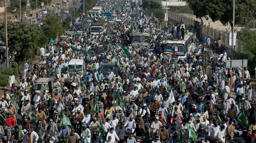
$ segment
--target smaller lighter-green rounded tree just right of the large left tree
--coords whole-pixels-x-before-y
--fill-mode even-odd
[[[47,42],[51,40],[51,38],[55,39],[57,35],[63,33],[62,21],[59,17],[54,14],[47,14],[46,18],[43,19],[44,25],[42,27],[44,33],[44,39]],[[45,45],[45,43],[43,44]]]

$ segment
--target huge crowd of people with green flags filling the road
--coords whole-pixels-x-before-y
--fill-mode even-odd
[[[195,43],[196,50],[185,59],[173,62],[163,55],[164,44],[170,37],[184,39],[184,23],[163,31],[158,20],[143,13],[133,2],[128,9],[126,3],[98,1],[97,6],[113,10],[112,14],[117,14],[122,22],[106,22],[102,34],[93,35],[89,30],[91,23],[86,22],[90,17],[81,14],[76,19],[81,28],[71,28],[74,33],[83,31],[82,36],[74,34],[51,44],[49,49],[42,47],[41,58],[34,67],[25,61],[24,74],[17,79],[19,85],[10,75],[10,95],[4,92],[0,102],[7,115],[3,127],[14,127],[10,140],[256,142],[256,97],[247,68],[244,75],[241,68],[226,68],[229,58],[224,49],[213,57],[212,71],[205,72],[202,57],[207,47],[200,43]],[[132,45],[134,29],[150,32],[149,47]],[[69,75],[71,59],[83,59],[83,73],[74,69]],[[115,64],[117,70],[103,75],[100,69],[104,63]],[[41,87],[39,93],[35,92],[39,78],[51,78],[53,87]],[[46,88],[51,88],[51,92],[46,92]],[[236,93],[235,100],[231,90]],[[35,113],[31,115],[29,111]],[[17,125],[18,112],[22,115],[21,126]],[[243,121],[247,122],[240,121],[243,114]],[[39,131],[39,119],[45,128],[43,134],[33,128],[35,125]],[[7,133],[0,129],[0,139],[6,142]]]

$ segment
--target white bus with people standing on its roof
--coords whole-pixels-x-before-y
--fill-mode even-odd
[[[189,32],[185,35],[184,40],[167,40],[164,45],[164,56],[178,61],[185,59],[192,52],[194,34]]]

